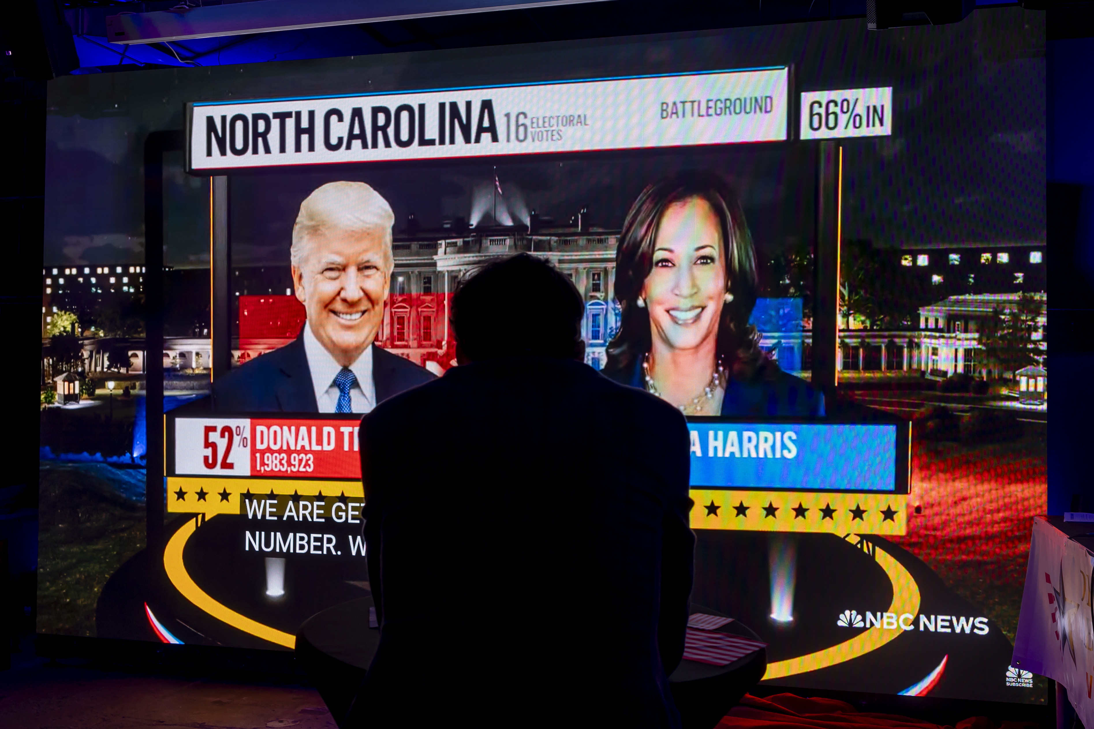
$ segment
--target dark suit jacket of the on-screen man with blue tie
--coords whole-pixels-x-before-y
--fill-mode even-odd
[[[373,344],[372,379],[380,403],[437,377]],[[303,334],[213,383],[212,409],[223,413],[318,412]]]

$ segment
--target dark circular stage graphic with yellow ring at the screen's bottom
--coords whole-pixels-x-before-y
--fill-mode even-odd
[[[327,529],[334,545],[322,534],[301,534],[306,545],[301,541],[304,553],[296,553],[286,551],[288,534],[281,536],[281,551],[269,533],[263,542],[245,517],[178,519],[159,558],[141,552],[107,583],[98,634],[291,648],[304,620],[370,595],[364,557],[345,554],[359,527],[340,529]],[[1005,685],[1012,647],[998,626],[884,538],[724,530],[696,536],[693,600],[734,615],[769,644],[765,681],[991,701],[1023,701],[1019,692],[1033,691]],[[787,540],[795,554],[789,575]],[[790,605],[792,620],[771,619],[776,602],[782,610]]]

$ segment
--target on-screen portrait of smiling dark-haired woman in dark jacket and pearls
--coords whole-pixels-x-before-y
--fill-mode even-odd
[[[619,235],[621,320],[604,374],[686,415],[823,415],[823,395],[760,348],[749,324],[758,289],[744,211],[720,175],[647,186]]]

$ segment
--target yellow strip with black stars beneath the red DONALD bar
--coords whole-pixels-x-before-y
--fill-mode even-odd
[[[286,501],[306,496],[310,501],[364,498],[361,480],[315,481],[294,479],[167,478],[167,512],[171,514],[244,514],[248,497]]]

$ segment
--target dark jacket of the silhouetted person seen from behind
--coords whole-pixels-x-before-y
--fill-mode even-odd
[[[678,411],[579,362],[512,357],[388,400],[360,434],[382,630],[344,726],[679,726]]]

